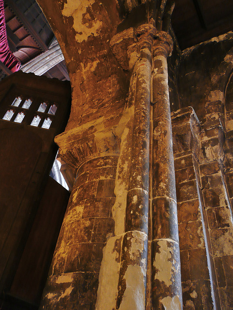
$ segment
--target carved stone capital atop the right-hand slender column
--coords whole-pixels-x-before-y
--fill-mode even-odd
[[[153,57],[163,55],[171,56],[173,49],[173,41],[171,36],[165,31],[157,31],[152,47]]]

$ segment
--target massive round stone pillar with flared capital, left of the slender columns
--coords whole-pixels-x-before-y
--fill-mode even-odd
[[[41,309],[95,308],[102,250],[114,233],[111,208],[118,159],[112,133],[97,128],[81,126],[72,137],[65,132],[56,138],[62,157],[77,174]]]

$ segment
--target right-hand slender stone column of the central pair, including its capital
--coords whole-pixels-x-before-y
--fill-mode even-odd
[[[152,308],[182,309],[175,172],[167,56],[172,39],[157,32],[152,71]]]

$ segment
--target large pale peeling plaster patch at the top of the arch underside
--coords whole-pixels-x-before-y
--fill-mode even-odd
[[[91,35],[98,35],[102,22],[100,20],[91,20],[89,14],[87,13],[87,8],[92,11],[91,5],[95,3],[95,0],[67,0],[64,5],[62,14],[64,16],[73,17],[73,28],[77,32],[75,39],[77,42],[83,42],[88,39]],[[82,23],[83,16],[85,20],[88,19],[89,22]]]

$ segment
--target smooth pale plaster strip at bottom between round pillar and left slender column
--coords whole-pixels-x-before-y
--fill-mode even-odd
[[[120,268],[120,253],[115,250],[115,244],[119,240],[118,236],[112,237],[103,248],[95,310],[115,309]]]

